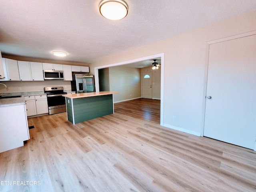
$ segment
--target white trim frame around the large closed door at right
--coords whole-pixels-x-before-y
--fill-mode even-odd
[[[205,67],[204,67],[204,88],[203,88],[203,98],[202,98],[202,101],[203,101],[203,104],[202,104],[202,122],[201,122],[200,136],[204,136],[204,121],[205,121],[205,110],[206,110],[206,91],[207,91],[208,61],[209,61],[210,45],[215,44],[215,43],[219,43],[219,42],[228,41],[228,40],[243,38],[243,37],[246,37],[246,36],[252,36],[252,35],[256,35],[256,30],[206,42],[206,59],[205,59]],[[254,151],[256,151],[256,142],[255,142],[255,146],[254,146]]]

